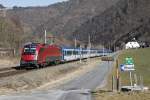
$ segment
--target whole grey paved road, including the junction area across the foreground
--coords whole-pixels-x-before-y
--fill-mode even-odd
[[[47,91],[0,96],[0,100],[92,100],[90,91],[105,85],[113,62],[100,62],[92,71]]]

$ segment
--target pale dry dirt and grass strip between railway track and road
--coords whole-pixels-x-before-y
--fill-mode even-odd
[[[100,58],[94,58],[89,64],[72,62],[3,78],[0,81],[0,94],[55,87],[90,71],[99,62]]]

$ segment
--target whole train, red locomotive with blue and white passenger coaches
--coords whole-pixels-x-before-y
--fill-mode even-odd
[[[111,53],[109,50],[68,48],[55,44],[29,43],[21,51],[20,67],[45,67],[48,64],[59,64],[88,57]]]

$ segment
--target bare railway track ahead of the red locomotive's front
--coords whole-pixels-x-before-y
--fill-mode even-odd
[[[23,74],[25,72],[27,72],[27,70],[25,70],[25,69],[19,70],[19,69],[17,69],[17,67],[1,68],[0,69],[0,78]]]

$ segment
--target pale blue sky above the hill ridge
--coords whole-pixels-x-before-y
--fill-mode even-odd
[[[27,7],[27,6],[47,6],[57,2],[68,0],[0,0],[0,4],[5,7]]]

